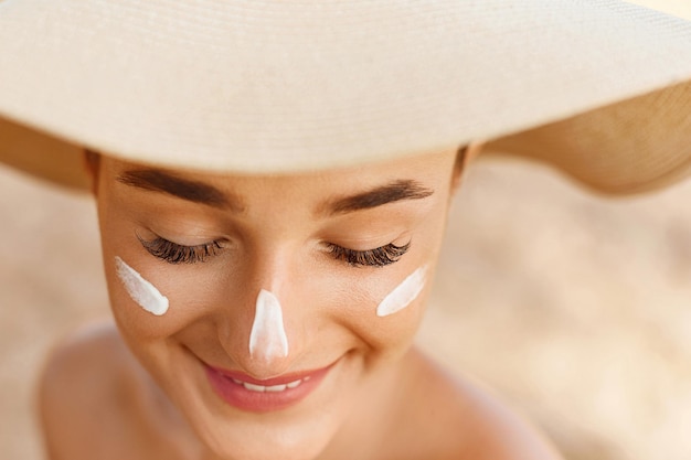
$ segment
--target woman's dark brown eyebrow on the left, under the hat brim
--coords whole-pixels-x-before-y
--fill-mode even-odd
[[[193,203],[202,203],[213,207],[242,211],[244,206],[236,196],[228,195],[215,186],[203,182],[178,178],[157,169],[137,169],[125,171],[116,180],[126,185],[142,190],[162,192]]]

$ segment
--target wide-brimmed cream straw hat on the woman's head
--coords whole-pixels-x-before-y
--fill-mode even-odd
[[[617,0],[6,0],[0,117],[2,161],[75,186],[84,147],[287,173],[488,140],[637,192],[689,170],[691,22]]]

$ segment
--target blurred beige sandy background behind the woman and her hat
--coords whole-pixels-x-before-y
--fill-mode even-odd
[[[691,458],[690,183],[605,201],[534,165],[475,165],[419,341],[571,460]],[[34,378],[108,314],[95,210],[0,169],[0,458],[41,459]]]

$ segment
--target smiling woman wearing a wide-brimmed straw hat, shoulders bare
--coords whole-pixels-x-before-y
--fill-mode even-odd
[[[0,25],[3,158],[63,183],[85,159],[116,324],[50,360],[52,458],[559,458],[412,346],[449,201],[483,139],[600,190],[679,175],[688,23],[616,1],[25,0]]]

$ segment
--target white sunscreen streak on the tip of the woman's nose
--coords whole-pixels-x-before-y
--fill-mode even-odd
[[[249,332],[249,355],[265,361],[288,355],[288,338],[283,325],[278,298],[262,289],[257,296],[254,323]]]

